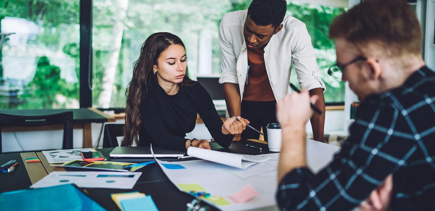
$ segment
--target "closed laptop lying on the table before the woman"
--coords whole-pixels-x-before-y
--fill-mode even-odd
[[[153,146],[154,156],[156,157],[182,157],[184,151],[166,149]],[[110,157],[153,157],[150,147],[115,147],[110,152]]]

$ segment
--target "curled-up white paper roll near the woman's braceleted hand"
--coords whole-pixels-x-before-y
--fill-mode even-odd
[[[267,154],[264,155],[234,154],[228,152],[206,150],[198,147],[187,148],[187,154],[207,161],[213,161],[215,163],[224,164],[224,165],[242,168],[242,169],[250,167],[254,164],[261,163],[271,158],[271,156]]]

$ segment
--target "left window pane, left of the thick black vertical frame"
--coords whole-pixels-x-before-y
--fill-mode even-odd
[[[80,0],[2,0],[0,110],[79,107]]]

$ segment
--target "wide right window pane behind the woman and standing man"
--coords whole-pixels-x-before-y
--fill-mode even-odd
[[[94,0],[94,107],[125,107],[125,89],[131,80],[133,63],[145,39],[158,31],[174,33],[183,40],[191,78],[220,74],[221,18],[225,13],[247,9],[250,3],[251,0]],[[288,15],[307,25],[327,86],[326,102],[344,101],[343,84],[326,74],[335,61],[334,43],[327,38],[328,27],[344,10],[294,1],[287,6]],[[292,73],[291,78],[296,80],[296,74]]]

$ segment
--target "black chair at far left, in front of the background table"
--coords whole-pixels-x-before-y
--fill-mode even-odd
[[[18,126],[18,127],[36,127],[53,124],[64,125],[64,140],[62,149],[73,148],[73,112],[67,111],[59,114],[43,116],[21,116],[0,113],[0,153],[2,152],[1,127]]]

